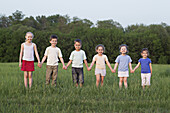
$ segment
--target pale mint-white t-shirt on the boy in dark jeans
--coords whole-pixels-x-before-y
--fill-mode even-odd
[[[83,60],[87,59],[86,54],[83,50],[74,50],[70,55],[70,60],[72,60],[72,67],[82,68]]]

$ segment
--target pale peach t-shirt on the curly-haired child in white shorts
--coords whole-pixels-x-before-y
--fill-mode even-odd
[[[93,57],[93,61],[96,61],[96,68],[105,69],[105,62],[108,61],[106,55],[99,56],[98,54]]]

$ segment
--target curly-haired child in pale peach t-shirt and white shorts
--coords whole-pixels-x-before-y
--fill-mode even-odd
[[[105,62],[107,63],[110,70],[113,72],[113,69],[108,61],[108,58],[106,55],[103,54],[105,47],[102,44],[99,44],[96,46],[96,52],[98,53],[93,57],[93,61],[89,67],[89,70],[93,67],[94,63],[96,62],[96,69],[95,69],[95,75],[96,75],[96,86],[99,86],[99,83],[101,81],[101,86],[103,86],[104,77],[106,75],[106,66]]]

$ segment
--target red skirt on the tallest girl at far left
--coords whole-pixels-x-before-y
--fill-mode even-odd
[[[21,71],[35,71],[34,70],[34,61],[22,60]]]

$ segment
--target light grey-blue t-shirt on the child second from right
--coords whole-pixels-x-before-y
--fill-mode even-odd
[[[129,71],[128,65],[132,62],[132,59],[129,55],[119,55],[115,62],[119,64],[118,71]]]

